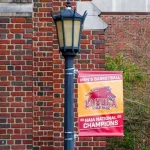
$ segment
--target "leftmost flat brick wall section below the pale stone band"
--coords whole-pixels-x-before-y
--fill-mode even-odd
[[[32,20],[0,17],[0,149],[32,149]]]

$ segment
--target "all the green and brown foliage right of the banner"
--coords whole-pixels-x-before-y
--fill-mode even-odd
[[[146,72],[122,53],[116,57],[106,57],[106,70],[122,71],[124,78],[125,101],[125,136],[124,138],[108,138],[110,150],[123,148],[126,150],[147,150],[143,143],[149,137],[145,135],[149,118],[149,94],[145,91],[148,81]],[[144,133],[144,134],[143,134]]]

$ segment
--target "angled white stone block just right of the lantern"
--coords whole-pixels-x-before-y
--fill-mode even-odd
[[[77,2],[77,12],[79,14],[83,14],[86,10],[88,15],[85,19],[83,29],[98,30],[107,28],[108,25],[99,17],[101,11],[98,7],[91,2]]]

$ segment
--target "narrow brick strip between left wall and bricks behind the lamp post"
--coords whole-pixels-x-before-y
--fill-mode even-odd
[[[33,146],[53,146],[52,0],[33,1]]]

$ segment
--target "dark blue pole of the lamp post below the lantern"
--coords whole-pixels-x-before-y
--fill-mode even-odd
[[[75,55],[65,55],[64,150],[74,150],[74,68]]]

